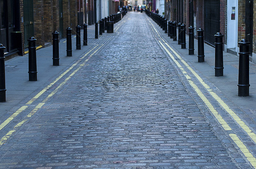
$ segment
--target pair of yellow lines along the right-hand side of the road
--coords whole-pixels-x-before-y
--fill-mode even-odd
[[[149,20],[148,20],[149,21]],[[149,21],[152,28],[156,32],[156,34],[159,36],[159,39],[162,40],[162,42],[179,58],[179,60],[186,66],[186,68],[189,69],[190,72],[198,79],[198,81],[207,89],[207,91],[210,93],[210,95],[227,111],[230,116],[238,123],[239,126],[251,137],[251,139],[256,143],[256,134],[250,130],[250,128],[239,118],[239,116],[236,115],[234,111],[232,111],[227,104],[215,93],[213,92],[210,87],[203,81],[203,79],[189,66],[188,63],[186,63],[179,54],[169,46],[168,43],[164,41],[160,37],[159,32],[157,29],[155,29],[154,25]],[[164,50],[169,54],[170,58],[174,61],[174,63],[178,66],[178,68],[181,70],[181,72],[184,74],[186,79],[189,81],[189,84],[191,87],[194,88],[195,92],[198,94],[198,96],[202,99],[202,101],[205,102],[205,105],[209,108],[209,110],[212,112],[212,114],[215,116],[217,121],[221,124],[221,126],[224,128],[224,130],[232,130],[230,126],[227,124],[227,122],[222,118],[222,116],[218,113],[218,111],[215,110],[214,106],[210,103],[210,101],[205,97],[205,95],[200,91],[200,89],[195,85],[195,83],[191,80],[191,77],[189,77],[189,74],[184,70],[184,68],[179,64],[179,62],[174,58],[174,56],[169,52],[169,50],[164,46],[164,44],[159,40],[159,43],[164,48]],[[236,145],[239,147],[239,149],[242,151],[242,153],[245,155],[246,159],[251,163],[251,165],[256,168],[256,158],[250,153],[250,151],[247,149],[246,145],[243,144],[243,142],[239,139],[239,137],[236,134],[229,134],[230,138],[236,143]]]

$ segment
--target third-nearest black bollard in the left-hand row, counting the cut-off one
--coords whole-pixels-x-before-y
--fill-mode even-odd
[[[59,56],[59,34],[58,31],[52,33],[52,65],[60,66]]]

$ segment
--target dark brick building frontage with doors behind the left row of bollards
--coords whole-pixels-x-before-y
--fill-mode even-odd
[[[12,58],[17,53],[23,55],[28,47],[27,39],[32,36],[37,39],[36,46],[45,46],[51,43],[54,31],[60,32],[60,37],[65,37],[67,27],[76,29],[77,0],[13,1],[14,3],[10,3],[9,0],[1,0],[0,20],[8,19],[6,23],[13,20],[11,28],[1,24],[2,30],[6,30],[1,31],[0,34],[0,43],[7,47],[6,59]],[[8,16],[5,16],[6,14]]]

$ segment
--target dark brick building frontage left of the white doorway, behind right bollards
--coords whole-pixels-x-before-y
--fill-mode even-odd
[[[190,5],[193,13],[190,11]],[[184,23],[187,32],[191,24],[194,24],[195,30],[205,30],[205,42],[214,45],[214,34],[225,34],[226,0],[167,0],[165,17],[177,23]]]

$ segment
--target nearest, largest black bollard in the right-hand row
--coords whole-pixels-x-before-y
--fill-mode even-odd
[[[249,96],[249,46],[250,42],[242,39],[239,44],[238,96]]]

